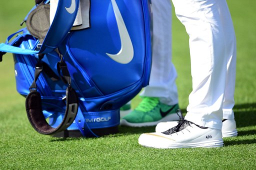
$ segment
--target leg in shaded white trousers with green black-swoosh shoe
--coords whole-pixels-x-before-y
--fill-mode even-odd
[[[178,120],[177,73],[171,62],[171,3],[151,0],[153,13],[152,67],[149,85],[140,93],[142,101],[120,124],[156,125],[160,121]]]

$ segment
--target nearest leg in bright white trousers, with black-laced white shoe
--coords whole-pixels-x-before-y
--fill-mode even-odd
[[[138,142],[157,148],[223,146],[222,106],[226,85],[225,0],[172,0],[189,35],[192,92],[185,119],[164,132],[143,133]],[[234,36],[234,33],[230,33]]]

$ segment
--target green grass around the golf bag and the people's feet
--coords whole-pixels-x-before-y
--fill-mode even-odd
[[[0,42],[19,29],[32,1],[0,0]],[[228,0],[237,37],[235,119],[238,136],[221,148],[154,149],[137,143],[154,127],[119,127],[99,138],[55,138],[36,133],[15,91],[11,54],[0,63],[0,169],[255,169],[256,18],[253,0]],[[180,107],[191,91],[188,36],[173,15],[173,62],[178,72]],[[132,100],[136,106],[140,98]]]

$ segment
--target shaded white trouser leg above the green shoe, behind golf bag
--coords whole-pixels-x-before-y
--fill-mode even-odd
[[[152,67],[149,85],[141,96],[159,97],[165,104],[178,103],[175,79],[177,73],[171,62],[171,3],[151,0],[153,13]]]

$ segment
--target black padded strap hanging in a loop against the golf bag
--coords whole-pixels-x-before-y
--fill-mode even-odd
[[[66,109],[65,109],[64,117],[62,119],[62,122],[56,128],[51,127],[45,120],[45,117],[42,112],[41,95],[36,90],[35,82],[39,77],[42,69],[43,69],[43,66],[39,61],[35,65],[34,81],[30,86],[29,94],[26,96],[26,101],[25,101],[26,113],[27,113],[27,118],[30,124],[37,132],[41,134],[54,134],[66,129],[73,122],[77,114],[78,98],[77,98],[76,92],[70,86],[70,80],[69,80],[68,87],[66,88],[66,96],[65,96]],[[67,69],[63,70],[62,72],[64,72],[63,74],[65,75],[63,76],[65,76],[66,79],[70,79]]]

